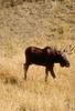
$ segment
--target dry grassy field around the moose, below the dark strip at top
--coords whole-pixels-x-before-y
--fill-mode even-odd
[[[75,3],[60,1],[0,8],[0,111],[75,111]],[[44,68],[31,65],[24,81],[29,46],[66,48],[71,67],[55,64],[45,83]]]

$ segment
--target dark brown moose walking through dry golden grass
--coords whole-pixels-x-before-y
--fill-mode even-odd
[[[69,61],[66,54],[52,47],[45,47],[43,49],[36,47],[28,47],[25,49],[25,63],[24,67],[24,79],[26,80],[26,72],[31,64],[38,64],[45,67],[45,81],[47,81],[49,71],[55,79],[54,63],[60,63],[61,67],[69,67]]]

